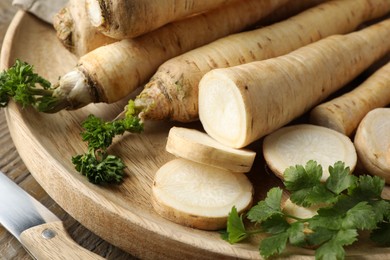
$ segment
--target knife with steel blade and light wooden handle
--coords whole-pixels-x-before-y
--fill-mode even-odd
[[[56,215],[1,171],[0,223],[34,259],[103,259],[72,240]]]

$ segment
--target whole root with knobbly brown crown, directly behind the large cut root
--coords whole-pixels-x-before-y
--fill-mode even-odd
[[[389,11],[388,0],[375,5],[367,0],[330,1],[280,23],[221,38],[159,66],[136,105],[145,107],[145,119],[198,120],[198,85],[210,70],[280,56],[329,35],[351,32]]]

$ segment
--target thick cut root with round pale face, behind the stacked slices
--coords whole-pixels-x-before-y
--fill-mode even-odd
[[[283,56],[214,69],[199,83],[200,121],[217,141],[245,147],[354,79],[389,52],[389,38],[387,19]]]

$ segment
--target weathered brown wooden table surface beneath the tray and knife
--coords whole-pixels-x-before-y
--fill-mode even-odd
[[[16,11],[17,9],[11,5],[11,0],[0,1],[0,46],[2,45],[8,24]],[[83,247],[106,259],[134,259],[131,255],[87,230],[47,195],[19,157],[7,127],[4,110],[1,108],[0,170],[62,219],[70,236]],[[2,226],[0,226],[0,259],[31,259],[19,241]]]

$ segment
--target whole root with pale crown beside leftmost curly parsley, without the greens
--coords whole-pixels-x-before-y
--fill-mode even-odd
[[[95,102],[113,103],[140,87],[164,61],[241,31],[286,2],[247,0],[170,23],[140,37],[97,48],[80,58],[78,69],[96,89]]]

